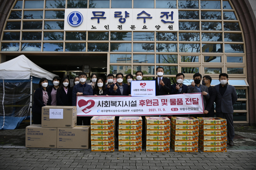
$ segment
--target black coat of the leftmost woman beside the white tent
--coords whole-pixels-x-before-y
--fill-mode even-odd
[[[32,112],[34,112],[34,113],[42,114],[42,107],[45,106],[45,104],[43,102],[43,91],[42,91],[42,89],[43,89],[43,87],[41,86],[40,88],[37,88],[35,93],[34,93],[34,104],[32,106]],[[46,88],[46,92],[48,93],[47,106],[51,106],[52,98],[51,98],[51,94],[48,92],[47,88]]]

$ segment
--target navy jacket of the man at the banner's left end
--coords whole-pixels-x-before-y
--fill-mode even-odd
[[[82,85],[80,82],[73,87],[72,92],[72,106],[76,106],[77,92],[83,93],[84,96],[92,96],[92,86],[89,84]]]

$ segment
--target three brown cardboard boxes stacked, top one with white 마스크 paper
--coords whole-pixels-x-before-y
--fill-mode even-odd
[[[42,107],[42,125],[26,127],[26,147],[89,149],[90,126],[76,126],[75,106]]]

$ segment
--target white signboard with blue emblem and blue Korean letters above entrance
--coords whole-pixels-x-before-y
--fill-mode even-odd
[[[178,31],[178,9],[65,9],[65,31]]]

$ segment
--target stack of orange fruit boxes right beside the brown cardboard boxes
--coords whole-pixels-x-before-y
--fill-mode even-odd
[[[114,116],[92,117],[92,151],[115,151],[115,123]]]

